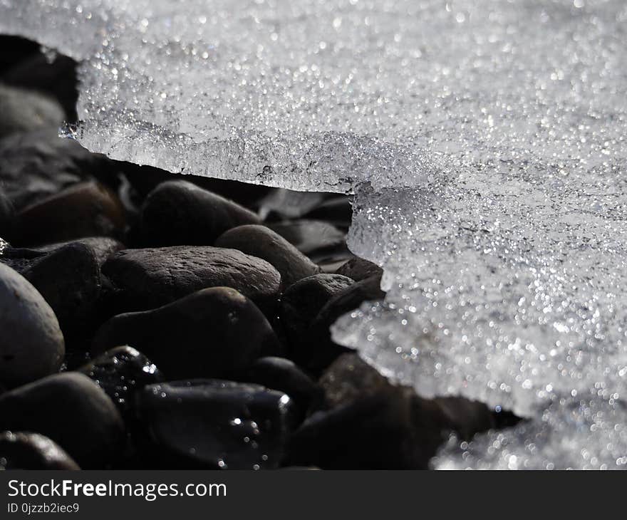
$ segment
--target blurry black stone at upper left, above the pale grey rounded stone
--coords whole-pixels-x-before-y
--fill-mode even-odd
[[[3,83],[38,90],[61,104],[66,120],[76,121],[78,79],[76,61],[57,55],[52,60],[43,53],[35,53],[17,63],[2,75]]]

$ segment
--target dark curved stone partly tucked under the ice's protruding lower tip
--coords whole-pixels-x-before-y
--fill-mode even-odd
[[[340,316],[358,308],[364,301],[376,301],[384,297],[385,293],[380,290],[376,277],[356,282],[337,293],[318,313],[306,337],[291,344],[291,355],[294,361],[312,373],[320,373],[338,355],[350,351],[346,347],[333,343],[331,325]]]

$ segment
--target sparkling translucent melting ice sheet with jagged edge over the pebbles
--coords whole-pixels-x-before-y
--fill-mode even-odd
[[[120,160],[356,193],[388,297],[333,336],[529,417],[435,467],[627,466],[623,0],[0,0]]]

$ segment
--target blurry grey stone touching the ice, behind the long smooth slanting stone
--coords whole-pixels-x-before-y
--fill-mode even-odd
[[[302,219],[267,226],[316,264],[329,258],[347,259],[351,256],[346,247],[346,235],[328,222]]]

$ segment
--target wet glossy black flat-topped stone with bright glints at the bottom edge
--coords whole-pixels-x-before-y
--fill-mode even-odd
[[[272,469],[291,429],[291,400],[259,385],[192,380],[151,385],[136,399],[157,466]]]

